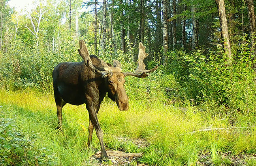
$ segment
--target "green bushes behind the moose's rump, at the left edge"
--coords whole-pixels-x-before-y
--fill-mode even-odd
[[[64,61],[78,61],[79,55],[73,45],[63,46],[61,54],[45,52],[45,50],[24,49],[19,43],[9,53],[3,53],[0,58],[1,87],[7,89],[36,88],[49,92],[52,88],[52,71],[54,66]],[[11,56],[10,56],[11,55]]]

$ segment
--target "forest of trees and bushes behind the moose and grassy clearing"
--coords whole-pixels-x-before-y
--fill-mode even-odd
[[[253,0],[37,0],[34,8],[15,11],[0,0],[0,87],[4,93],[30,89],[51,95],[53,67],[81,61],[81,39],[91,54],[107,63],[117,59],[131,72],[143,42],[146,66],[160,67],[147,79],[126,78],[130,100],[182,105],[207,117],[218,115],[220,122],[229,117],[226,128],[243,117],[247,121],[239,127],[248,129],[250,145],[232,155],[255,155],[254,5]],[[209,151],[214,148],[211,144]],[[158,157],[165,154],[158,152]],[[181,157],[180,163],[190,159]],[[147,163],[164,165],[161,160]]]

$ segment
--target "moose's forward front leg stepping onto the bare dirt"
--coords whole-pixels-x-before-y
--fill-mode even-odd
[[[97,137],[100,141],[100,148],[101,148],[100,158],[101,158],[101,160],[106,160],[106,159],[108,159],[108,156],[107,156],[106,149],[104,147],[103,133],[102,133],[102,130],[100,128],[97,113],[96,113],[96,111],[95,111],[95,109],[92,105],[87,105],[86,108],[87,108],[88,113],[89,113],[90,122],[92,123],[93,127],[95,128],[96,135],[97,135]],[[89,127],[90,127],[90,125],[89,125]],[[89,128],[89,130],[90,130],[90,128]],[[93,131],[93,128],[92,128],[92,131]],[[92,133],[92,131],[91,131],[91,133]],[[89,139],[91,139],[90,138],[90,133],[89,133]],[[88,140],[88,141],[90,141],[90,140]]]

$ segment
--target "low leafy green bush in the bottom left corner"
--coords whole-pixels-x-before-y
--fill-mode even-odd
[[[17,129],[12,119],[0,119],[0,165],[53,164],[53,156],[46,155],[46,148],[36,151],[36,135]]]

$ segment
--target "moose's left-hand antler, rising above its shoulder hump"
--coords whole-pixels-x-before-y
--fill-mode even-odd
[[[85,65],[90,68],[91,70],[93,70],[94,72],[97,72],[99,74],[102,74],[102,77],[107,76],[107,74],[110,72],[109,71],[109,67],[107,66],[107,64],[105,64],[104,61],[101,60],[102,65],[104,66],[104,71],[100,71],[97,68],[95,68],[92,64],[92,60],[90,59],[90,54],[88,52],[87,46],[85,44],[85,41],[80,40],[79,41],[79,47],[80,49],[78,49],[78,52],[80,54],[80,56],[84,59],[85,61]]]

